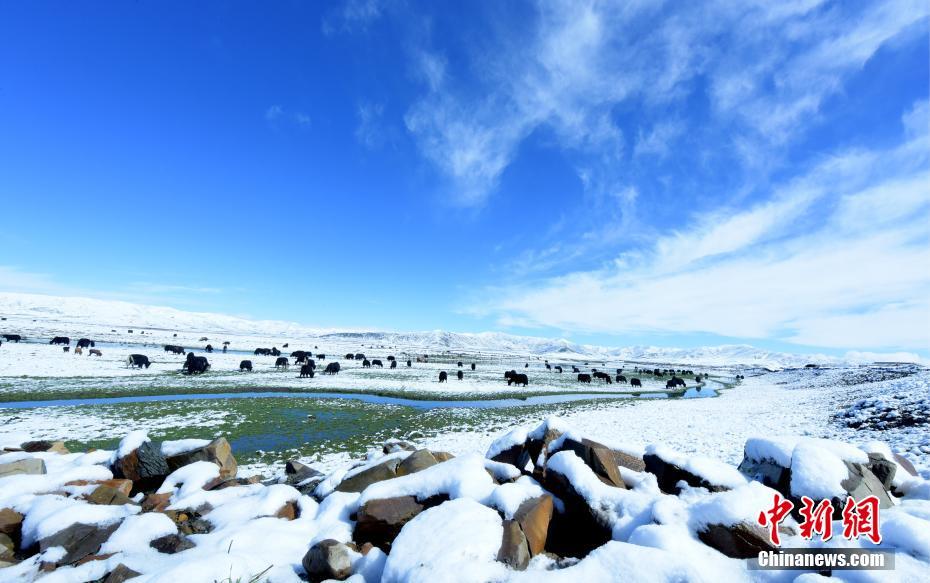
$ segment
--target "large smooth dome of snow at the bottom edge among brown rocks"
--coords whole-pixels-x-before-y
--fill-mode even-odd
[[[451,500],[420,513],[404,526],[394,540],[382,581],[504,579],[507,568],[496,561],[503,535],[497,512],[474,500]]]

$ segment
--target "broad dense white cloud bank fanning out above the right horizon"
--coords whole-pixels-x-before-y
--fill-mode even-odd
[[[588,332],[927,350],[928,152],[930,139],[920,138],[836,156],[772,201],[692,221],[691,232],[663,236],[651,251],[491,290],[491,311]]]

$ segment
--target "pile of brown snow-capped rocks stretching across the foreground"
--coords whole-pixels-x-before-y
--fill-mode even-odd
[[[776,492],[826,498],[836,520],[847,497],[878,497],[898,574],[930,574],[930,481],[879,443],[751,439],[735,468],[554,419],[484,456],[390,441],[264,481],[237,476],[223,438],[19,450],[0,455],[4,581],[752,580],[741,559],[775,548],[755,519]],[[799,519],[783,546],[811,545]]]

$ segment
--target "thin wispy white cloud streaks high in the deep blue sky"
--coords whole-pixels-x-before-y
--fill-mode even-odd
[[[437,51],[414,51],[426,91],[410,106],[407,129],[453,201],[478,206],[537,129],[554,132],[580,165],[622,166],[628,132],[616,107],[676,111],[706,86],[729,147],[747,167],[772,166],[845,78],[928,14],[919,0],[864,11],[822,4],[542,2],[528,33],[489,35],[468,63],[469,83],[450,82],[466,71],[450,70]],[[667,156],[694,129],[665,118],[636,131],[635,156]],[[607,173],[603,180],[611,184],[601,189],[623,186]]]

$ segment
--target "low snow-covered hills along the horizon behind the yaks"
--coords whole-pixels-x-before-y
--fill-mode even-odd
[[[427,351],[493,352],[527,354],[554,360],[623,360],[629,362],[679,363],[701,366],[747,365],[767,368],[799,367],[807,363],[839,364],[874,360],[915,361],[914,355],[850,353],[839,359],[822,354],[790,354],[762,350],[747,344],[699,348],[628,346],[609,348],[577,344],[561,339],[518,336],[501,332],[456,333],[380,332],[367,330],[321,329],[278,320],[250,320],[225,314],[188,312],[164,306],[124,301],[37,294],[0,292],[0,322],[3,333],[56,330],[109,331],[111,328],[148,330],[149,338],[177,338],[200,335],[235,335],[272,342],[309,341],[313,338],[345,343],[384,344]]]

